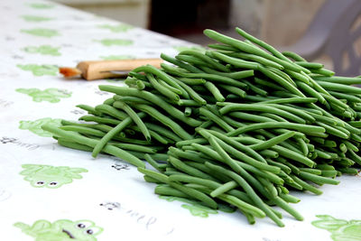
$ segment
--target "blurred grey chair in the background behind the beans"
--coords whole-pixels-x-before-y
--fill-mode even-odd
[[[301,40],[283,47],[282,51],[297,52],[310,61],[327,55],[338,76],[360,75],[361,1],[326,1]]]

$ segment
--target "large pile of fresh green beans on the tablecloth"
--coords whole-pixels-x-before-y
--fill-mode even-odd
[[[236,32],[245,40],[205,30],[218,42],[208,51],[162,54],[169,64],[132,70],[127,87],[99,86],[114,96],[79,105],[81,122],[42,128],[60,145],[134,164],[159,195],[228,205],[250,224],[283,227],[274,207],[302,220],[291,191],[319,195],[361,165],[361,78]]]

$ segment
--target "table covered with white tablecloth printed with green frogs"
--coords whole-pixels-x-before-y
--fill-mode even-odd
[[[43,1],[0,3],[0,227],[2,240],[360,240],[361,177],[343,176],[323,194],[293,193],[304,217],[286,227],[247,224],[239,212],[205,209],[153,194],[134,166],[61,147],[41,125],[76,120],[111,97],[97,85],[66,80],[59,66],[80,60],[154,58],[198,48],[162,34]],[[348,239],[347,239],[348,238]],[[69,238],[71,240],[72,238]]]

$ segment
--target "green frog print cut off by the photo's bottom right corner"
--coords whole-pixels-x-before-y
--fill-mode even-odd
[[[312,225],[323,228],[331,233],[334,241],[361,240],[361,220],[343,220],[329,215],[317,215],[319,220],[313,221]]]

